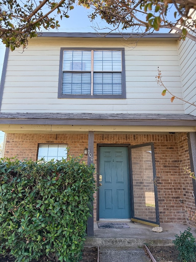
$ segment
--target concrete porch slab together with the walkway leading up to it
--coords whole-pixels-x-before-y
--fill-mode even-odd
[[[103,222],[103,221],[101,221]],[[151,261],[141,248],[149,245],[172,245],[175,235],[180,235],[188,225],[165,223],[160,226],[163,232],[153,232],[153,227],[139,223],[127,223],[130,228],[99,229],[94,224],[94,237],[88,237],[85,246],[100,247],[100,262],[149,262]],[[196,229],[191,227],[191,233],[196,238]]]

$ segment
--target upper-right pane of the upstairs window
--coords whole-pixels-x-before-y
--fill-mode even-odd
[[[121,71],[121,51],[94,51],[94,71]]]

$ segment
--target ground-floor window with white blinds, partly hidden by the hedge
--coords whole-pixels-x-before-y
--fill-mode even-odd
[[[41,158],[44,158],[46,161],[67,158],[67,145],[40,144],[37,159],[40,160]]]

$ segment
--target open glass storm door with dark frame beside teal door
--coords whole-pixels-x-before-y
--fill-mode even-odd
[[[159,225],[153,145],[131,147],[133,221]]]

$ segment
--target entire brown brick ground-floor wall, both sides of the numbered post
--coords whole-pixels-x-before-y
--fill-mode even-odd
[[[183,167],[190,166],[186,133],[175,134],[95,134],[94,163],[97,143],[154,143],[160,222],[185,223],[186,210],[194,210],[191,179]],[[38,143],[65,143],[70,154],[79,155],[88,147],[88,134],[7,134],[5,156],[36,160]],[[86,156],[84,160],[87,160]],[[96,176],[96,174],[95,174]],[[96,193],[94,201],[96,219]]]

